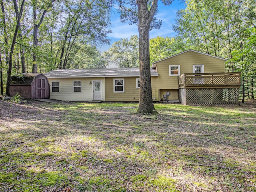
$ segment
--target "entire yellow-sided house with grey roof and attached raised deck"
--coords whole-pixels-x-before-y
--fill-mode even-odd
[[[225,104],[238,104],[240,74],[225,73],[225,62],[195,50],[156,61],[151,68],[152,98],[155,102],[221,104],[212,100],[216,94]],[[139,68],[59,69],[45,76],[52,99],[138,102],[140,98]],[[235,96],[228,96],[228,92]],[[201,97],[207,99],[198,100]]]

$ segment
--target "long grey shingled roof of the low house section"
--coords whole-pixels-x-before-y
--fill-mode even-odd
[[[151,76],[158,76],[155,69],[151,70]],[[129,77],[139,76],[139,68],[94,68],[94,69],[58,69],[44,75],[48,78],[65,77]]]

